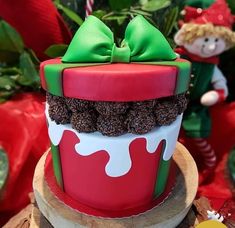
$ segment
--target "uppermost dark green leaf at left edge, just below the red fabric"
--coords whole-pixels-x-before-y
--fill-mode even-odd
[[[21,53],[24,43],[20,35],[5,21],[0,21],[0,50]]]

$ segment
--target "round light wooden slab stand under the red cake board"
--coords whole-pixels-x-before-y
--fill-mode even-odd
[[[170,196],[144,214],[122,219],[105,219],[79,213],[51,192],[44,177],[47,153],[34,174],[33,188],[40,211],[54,227],[176,227],[188,213],[197,192],[196,164],[184,146],[177,143],[173,160],[177,165],[176,185]]]

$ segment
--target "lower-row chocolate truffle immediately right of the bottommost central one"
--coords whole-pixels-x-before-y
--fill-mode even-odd
[[[133,134],[145,134],[156,125],[154,115],[141,110],[130,110],[125,123],[128,132]]]

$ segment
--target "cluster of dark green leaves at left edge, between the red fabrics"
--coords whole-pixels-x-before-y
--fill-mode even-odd
[[[39,90],[39,63],[16,30],[0,20],[0,103],[18,92]]]

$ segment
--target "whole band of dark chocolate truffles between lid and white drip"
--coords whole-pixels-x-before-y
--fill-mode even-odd
[[[136,102],[87,101],[47,94],[49,116],[57,124],[71,123],[79,132],[106,136],[146,134],[169,125],[187,106],[185,94]]]

